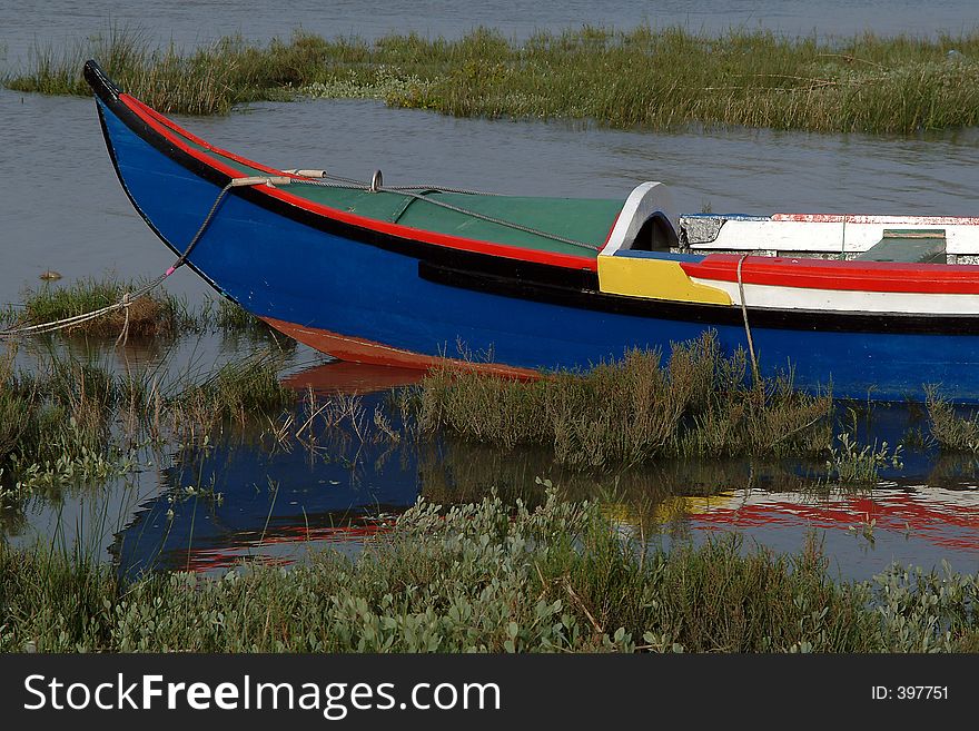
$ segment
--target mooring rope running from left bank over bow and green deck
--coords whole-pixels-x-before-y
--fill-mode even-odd
[[[324,178],[329,178],[326,180]],[[184,249],[184,253],[177,257],[177,260],[174,261],[172,265],[156,279],[149,281],[139,289],[135,292],[126,292],[122,294],[122,297],[119,302],[112,303],[111,305],[106,305],[105,307],[99,307],[98,309],[93,309],[88,313],[82,313],[80,315],[72,315],[70,317],[62,317],[60,319],[51,320],[49,323],[39,323],[37,325],[19,325],[16,327],[8,327],[4,329],[0,329],[0,340],[12,339],[16,337],[23,337],[29,335],[42,335],[46,333],[53,333],[56,330],[66,329],[69,327],[78,327],[88,322],[113,313],[118,309],[123,309],[126,313],[126,318],[122,324],[122,330],[119,333],[119,337],[116,340],[116,345],[126,345],[129,335],[129,307],[134,302],[139,299],[140,297],[148,295],[150,292],[156,289],[167,277],[169,277],[174,271],[176,271],[180,266],[186,264],[187,257],[190,256],[190,253],[194,250],[194,247],[197,246],[200,238],[204,236],[205,231],[210,226],[214,220],[215,215],[218,211],[218,208],[221,205],[221,201],[228,195],[228,191],[231,188],[239,188],[244,186],[254,186],[254,185],[267,185],[267,186],[277,186],[277,185],[310,185],[310,186],[320,186],[320,187],[329,187],[329,188],[350,188],[356,190],[368,190],[374,192],[393,192],[404,196],[409,196],[416,200],[423,200],[425,202],[432,204],[433,206],[439,206],[442,208],[447,208],[448,210],[454,210],[459,214],[464,214],[466,216],[472,216],[473,218],[478,218],[481,220],[488,221],[491,224],[497,224],[500,226],[506,226],[510,228],[514,228],[516,230],[524,231],[526,234],[531,234],[533,236],[541,236],[543,238],[550,238],[555,241],[561,241],[563,244],[568,244],[572,246],[580,246],[584,248],[589,248],[592,250],[599,250],[597,246],[593,246],[591,244],[586,244],[584,241],[578,241],[572,238],[566,238],[564,236],[558,236],[556,234],[551,234],[548,231],[543,231],[531,226],[524,226],[522,224],[517,224],[515,221],[508,221],[503,218],[496,218],[494,216],[487,216],[485,214],[481,214],[474,210],[467,210],[462,208],[461,206],[454,206],[453,204],[445,202],[443,200],[435,200],[433,198],[428,198],[421,192],[416,192],[417,190],[436,190],[439,192],[457,192],[463,195],[483,195],[483,196],[498,196],[500,194],[495,192],[479,192],[476,190],[466,190],[464,188],[446,188],[442,186],[382,186],[379,185],[379,170],[375,174],[375,181],[372,184],[366,184],[362,180],[356,180],[354,178],[344,178],[342,176],[328,175],[326,171],[323,171],[323,175],[319,179],[304,179],[304,178],[290,178],[286,176],[248,176],[243,178],[233,178],[217,195],[215,201],[211,204],[210,209],[207,211],[207,215],[204,217],[204,221],[198,227],[197,231],[194,234],[194,237],[190,239],[190,243],[187,245],[187,248]],[[740,269],[739,269],[740,273]],[[746,323],[746,320],[745,320]]]

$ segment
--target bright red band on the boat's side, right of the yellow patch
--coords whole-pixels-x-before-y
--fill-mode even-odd
[[[738,281],[740,256],[711,254],[701,261],[681,261],[691,277]],[[833,261],[794,257],[750,256],[742,266],[744,284],[851,292],[979,294],[979,266],[968,264],[897,264]]]

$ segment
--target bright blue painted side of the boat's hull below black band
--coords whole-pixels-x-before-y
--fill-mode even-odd
[[[178,164],[98,100],[118,175],[147,223],[175,251],[201,225],[221,186]],[[520,368],[587,368],[630,348],[714,330],[746,348],[740,325],[660,318],[534,297],[502,296],[419,276],[419,260],[323,230],[229,195],[188,263],[250,313],[425,356],[490,356]],[[764,375],[837,397],[922,401],[926,386],[979,402],[979,337],[752,327]]]

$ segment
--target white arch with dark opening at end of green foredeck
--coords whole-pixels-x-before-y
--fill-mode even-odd
[[[678,245],[670,221],[673,197],[662,182],[643,182],[629,194],[602,254],[619,250],[669,251]]]

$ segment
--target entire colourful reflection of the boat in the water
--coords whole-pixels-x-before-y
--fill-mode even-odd
[[[587,473],[555,464],[543,447],[375,438],[375,408],[390,388],[419,375],[337,362],[290,376],[289,385],[313,388],[320,405],[349,406],[349,395],[359,395],[366,438],[349,416],[332,426],[316,421],[296,438],[300,407],[288,439],[266,434],[185,448],[162,472],[160,494],[118,535],[118,570],[135,576],[152,569],[218,571],[243,560],[290,563],[327,546],[354,555],[419,495],[455,504],[496,491],[504,501],[534,505],[544,498],[537,477],[570,500],[599,497],[623,532],[653,546],[734,531],[745,550],[758,544],[794,553],[817,533],[831,571],[846,577],[869,579],[894,561],[979,569],[975,460],[909,452],[901,471],[882,474],[888,482],[854,490],[827,485],[824,470],[818,483],[823,464],[662,461]],[[900,411],[878,408],[874,428],[861,441],[897,443],[909,428],[907,409]]]

